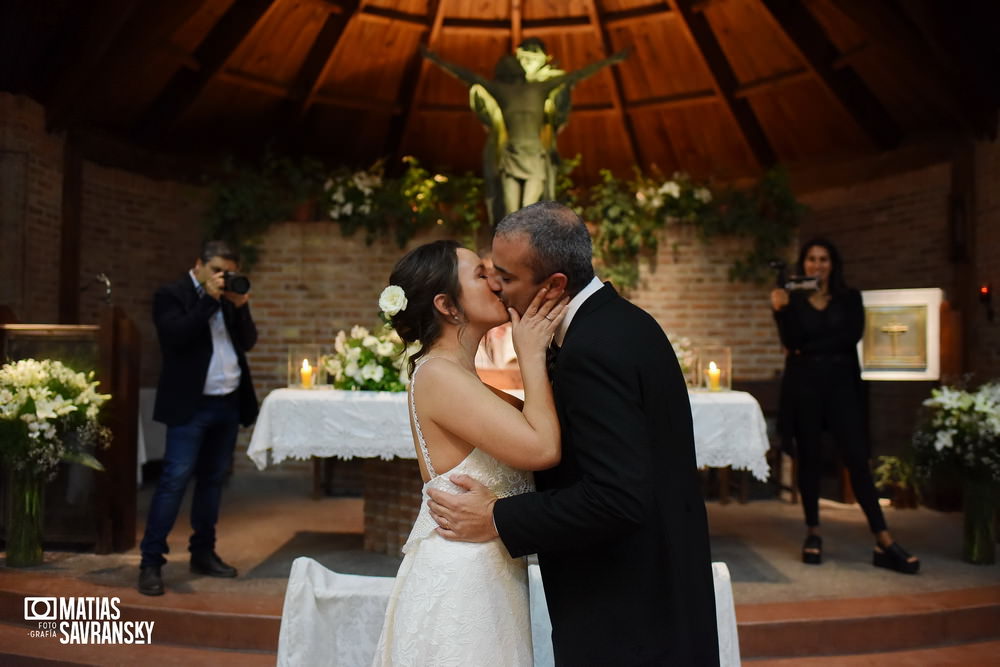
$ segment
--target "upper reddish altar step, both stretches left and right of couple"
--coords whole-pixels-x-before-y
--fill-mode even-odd
[[[155,622],[154,646],[260,651],[272,661],[283,603],[275,595],[210,592],[168,591],[148,597],[134,588],[95,586],[53,573],[0,569],[0,623],[22,634],[28,627],[25,596],[119,597],[123,620]],[[849,656],[990,642],[1000,640],[1000,586],[737,605],[736,618],[740,653],[745,659]],[[65,649],[59,644],[56,647]]]

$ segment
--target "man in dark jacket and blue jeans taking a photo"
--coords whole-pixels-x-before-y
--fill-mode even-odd
[[[160,568],[169,551],[167,536],[192,476],[191,571],[236,576],[236,569],[215,553],[215,524],[240,424],[249,426],[257,417],[246,360],[257,342],[250,298],[226,291],[227,273],[237,270],[238,261],[227,243],[209,241],[193,269],[153,295],[162,355],[153,418],[167,425],[167,442],[140,547],[139,592],[145,595],[163,594]]]

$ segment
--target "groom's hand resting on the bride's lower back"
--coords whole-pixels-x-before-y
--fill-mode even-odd
[[[428,489],[427,507],[438,524],[438,535],[460,542],[489,542],[496,538],[493,504],[497,498],[493,492],[468,475],[453,475],[449,479],[467,492],[454,494]]]

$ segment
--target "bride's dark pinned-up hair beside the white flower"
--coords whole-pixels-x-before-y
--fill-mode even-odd
[[[390,285],[399,285],[406,293],[406,310],[390,320],[399,337],[407,344],[420,341],[420,351],[410,357],[410,370],[441,337],[445,317],[434,307],[434,297],[444,294],[462,313],[458,297],[458,253],[462,246],[455,241],[434,241],[418,246],[396,262],[389,276]]]

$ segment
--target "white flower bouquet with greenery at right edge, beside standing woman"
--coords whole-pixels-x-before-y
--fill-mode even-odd
[[[932,389],[926,419],[913,436],[918,468],[945,464],[963,474],[1000,482],[1000,381],[976,391]]]

